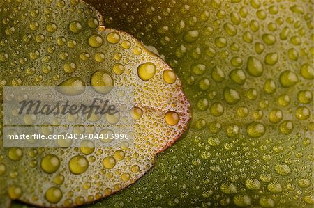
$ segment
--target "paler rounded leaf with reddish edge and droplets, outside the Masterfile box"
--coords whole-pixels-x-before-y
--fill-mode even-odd
[[[86,3],[1,1],[0,19],[1,90],[92,86],[106,93],[99,87],[133,86],[135,91],[135,106],[129,109],[135,118],[134,145],[89,141],[89,147],[80,148],[4,148],[1,140],[1,202],[9,196],[42,207],[73,207],[105,198],[142,177],[155,155],[186,130],[189,103],[177,75],[131,35],[105,29]],[[76,133],[75,128],[68,133]]]

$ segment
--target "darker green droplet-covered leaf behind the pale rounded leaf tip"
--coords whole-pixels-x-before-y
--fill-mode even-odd
[[[313,207],[313,1],[93,1],[154,46],[193,108],[184,139],[95,207]]]

